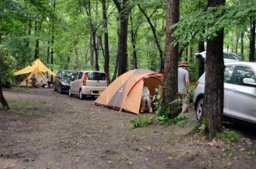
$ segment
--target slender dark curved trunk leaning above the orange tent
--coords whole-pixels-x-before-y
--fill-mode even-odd
[[[150,28],[153,32],[153,37],[154,37],[154,40],[155,40],[155,43],[156,43],[156,46],[157,46],[157,49],[159,51],[159,57],[160,57],[160,70],[159,72],[163,72],[164,70],[164,59],[163,59],[163,50],[161,48],[161,45],[159,44],[159,41],[157,39],[157,35],[156,35],[156,29],[155,27],[153,26],[153,24],[151,23],[150,21],[150,18],[148,17],[148,15],[146,14],[146,12],[141,8],[140,5],[138,5],[140,11],[143,13],[143,15],[145,16],[145,18],[147,19],[149,25],[150,25]]]

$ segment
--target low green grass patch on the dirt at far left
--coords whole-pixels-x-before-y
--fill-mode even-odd
[[[15,113],[33,116],[33,115],[43,115],[45,112],[49,111],[49,107],[45,104],[34,102],[31,100],[15,100],[15,99],[7,99],[7,103],[9,104],[11,110]]]

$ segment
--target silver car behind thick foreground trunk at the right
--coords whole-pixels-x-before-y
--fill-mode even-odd
[[[224,80],[224,119],[256,124],[256,63],[226,62]],[[196,82],[193,103],[196,117],[202,114],[205,73]]]

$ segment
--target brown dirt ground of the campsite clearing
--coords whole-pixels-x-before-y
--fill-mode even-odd
[[[4,90],[0,168],[255,168],[256,132],[227,125],[236,142],[185,136],[196,125],[133,129],[131,113],[93,106],[53,89]],[[154,116],[145,113],[145,116]]]

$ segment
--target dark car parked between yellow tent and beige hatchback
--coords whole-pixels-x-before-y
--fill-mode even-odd
[[[60,94],[62,92],[68,92],[70,79],[73,79],[76,73],[77,71],[60,70],[54,79],[54,91],[59,90]]]

